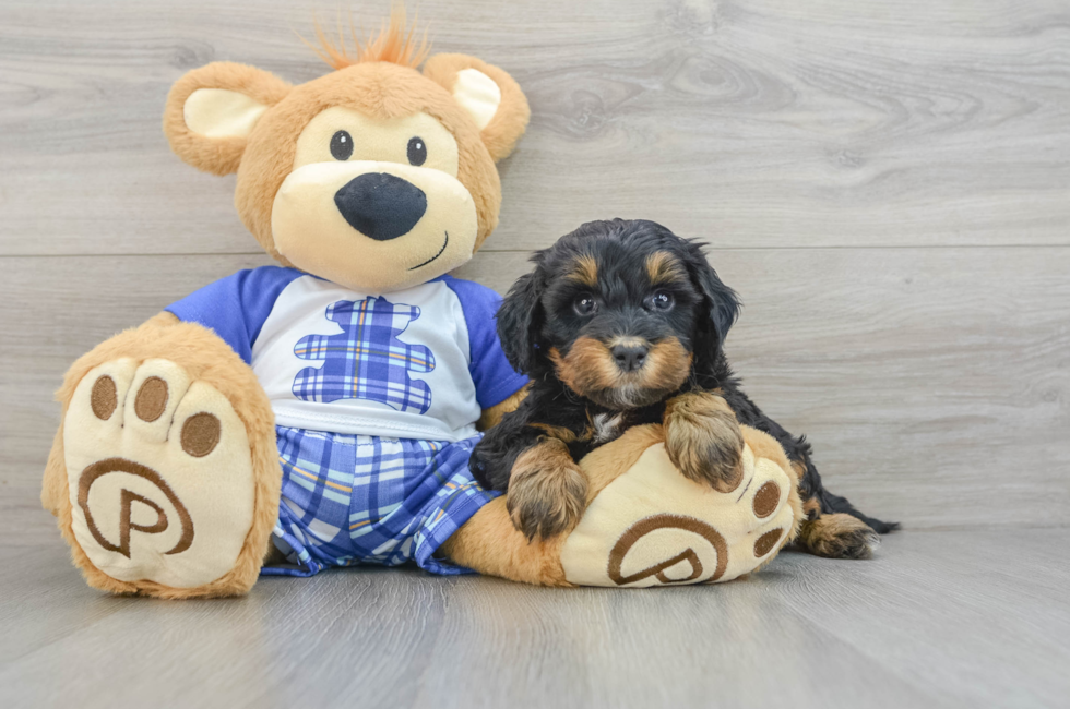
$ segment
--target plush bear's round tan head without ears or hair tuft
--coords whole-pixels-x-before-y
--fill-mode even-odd
[[[357,64],[293,89],[249,136],[236,200],[287,265],[360,290],[425,283],[497,224],[498,171],[472,117],[413,69]]]

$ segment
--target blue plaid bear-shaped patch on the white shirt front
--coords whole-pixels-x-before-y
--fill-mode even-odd
[[[423,345],[399,339],[408,323],[420,316],[414,305],[385,298],[340,300],[328,305],[326,319],[342,326],[341,335],[309,335],[294,347],[304,360],[325,360],[294,378],[294,396],[306,401],[371,399],[397,411],[427,413],[431,389],[412,380],[409,372],[430,372],[435,356]]]

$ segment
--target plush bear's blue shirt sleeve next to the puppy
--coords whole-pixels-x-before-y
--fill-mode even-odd
[[[461,301],[464,322],[468,327],[468,372],[476,385],[479,407],[489,409],[527,384],[527,377],[512,368],[498,341],[495,314],[501,296],[471,280],[447,276],[443,281]]]

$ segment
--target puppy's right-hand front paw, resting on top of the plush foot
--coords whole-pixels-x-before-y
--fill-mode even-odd
[[[732,492],[744,477],[744,436],[736,414],[716,394],[683,394],[665,407],[665,450],[680,472]]]

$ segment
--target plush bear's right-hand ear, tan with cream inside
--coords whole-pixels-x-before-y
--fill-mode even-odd
[[[424,75],[472,116],[496,163],[513,152],[532,111],[512,76],[467,55],[435,55],[424,64]]]

